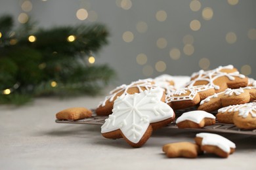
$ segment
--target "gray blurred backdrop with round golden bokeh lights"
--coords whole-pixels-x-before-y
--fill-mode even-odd
[[[256,78],[255,0],[1,0],[0,14],[39,27],[106,24],[108,46],[94,54],[116,84],[161,74],[191,75],[232,64]]]

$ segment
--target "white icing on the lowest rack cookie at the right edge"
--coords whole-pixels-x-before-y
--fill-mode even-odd
[[[218,112],[237,112],[238,116],[242,116],[242,118],[247,118],[249,114],[253,118],[256,118],[256,103],[245,103],[242,105],[230,105],[228,107],[223,107],[218,110]]]

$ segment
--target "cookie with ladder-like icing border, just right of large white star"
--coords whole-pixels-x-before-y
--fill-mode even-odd
[[[171,106],[174,110],[184,109],[198,105],[202,99],[209,95],[213,95],[215,90],[211,86],[192,86],[181,88],[167,95],[165,103]]]

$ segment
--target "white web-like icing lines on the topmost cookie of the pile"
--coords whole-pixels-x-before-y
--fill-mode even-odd
[[[220,87],[213,83],[214,80],[220,78],[222,76],[226,76],[229,80],[235,80],[235,76],[239,78],[245,78],[244,75],[241,75],[238,71],[233,73],[224,73],[221,72],[222,69],[234,69],[233,65],[220,66],[217,69],[213,69],[210,71],[200,70],[198,73],[193,73],[192,77],[197,76],[194,80],[188,82],[188,86],[194,86],[197,81],[207,81],[206,85],[213,86],[215,90],[219,90]]]

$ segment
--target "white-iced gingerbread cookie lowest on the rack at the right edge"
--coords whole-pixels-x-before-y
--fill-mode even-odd
[[[256,103],[231,105],[218,110],[217,120],[242,129],[256,129]]]

